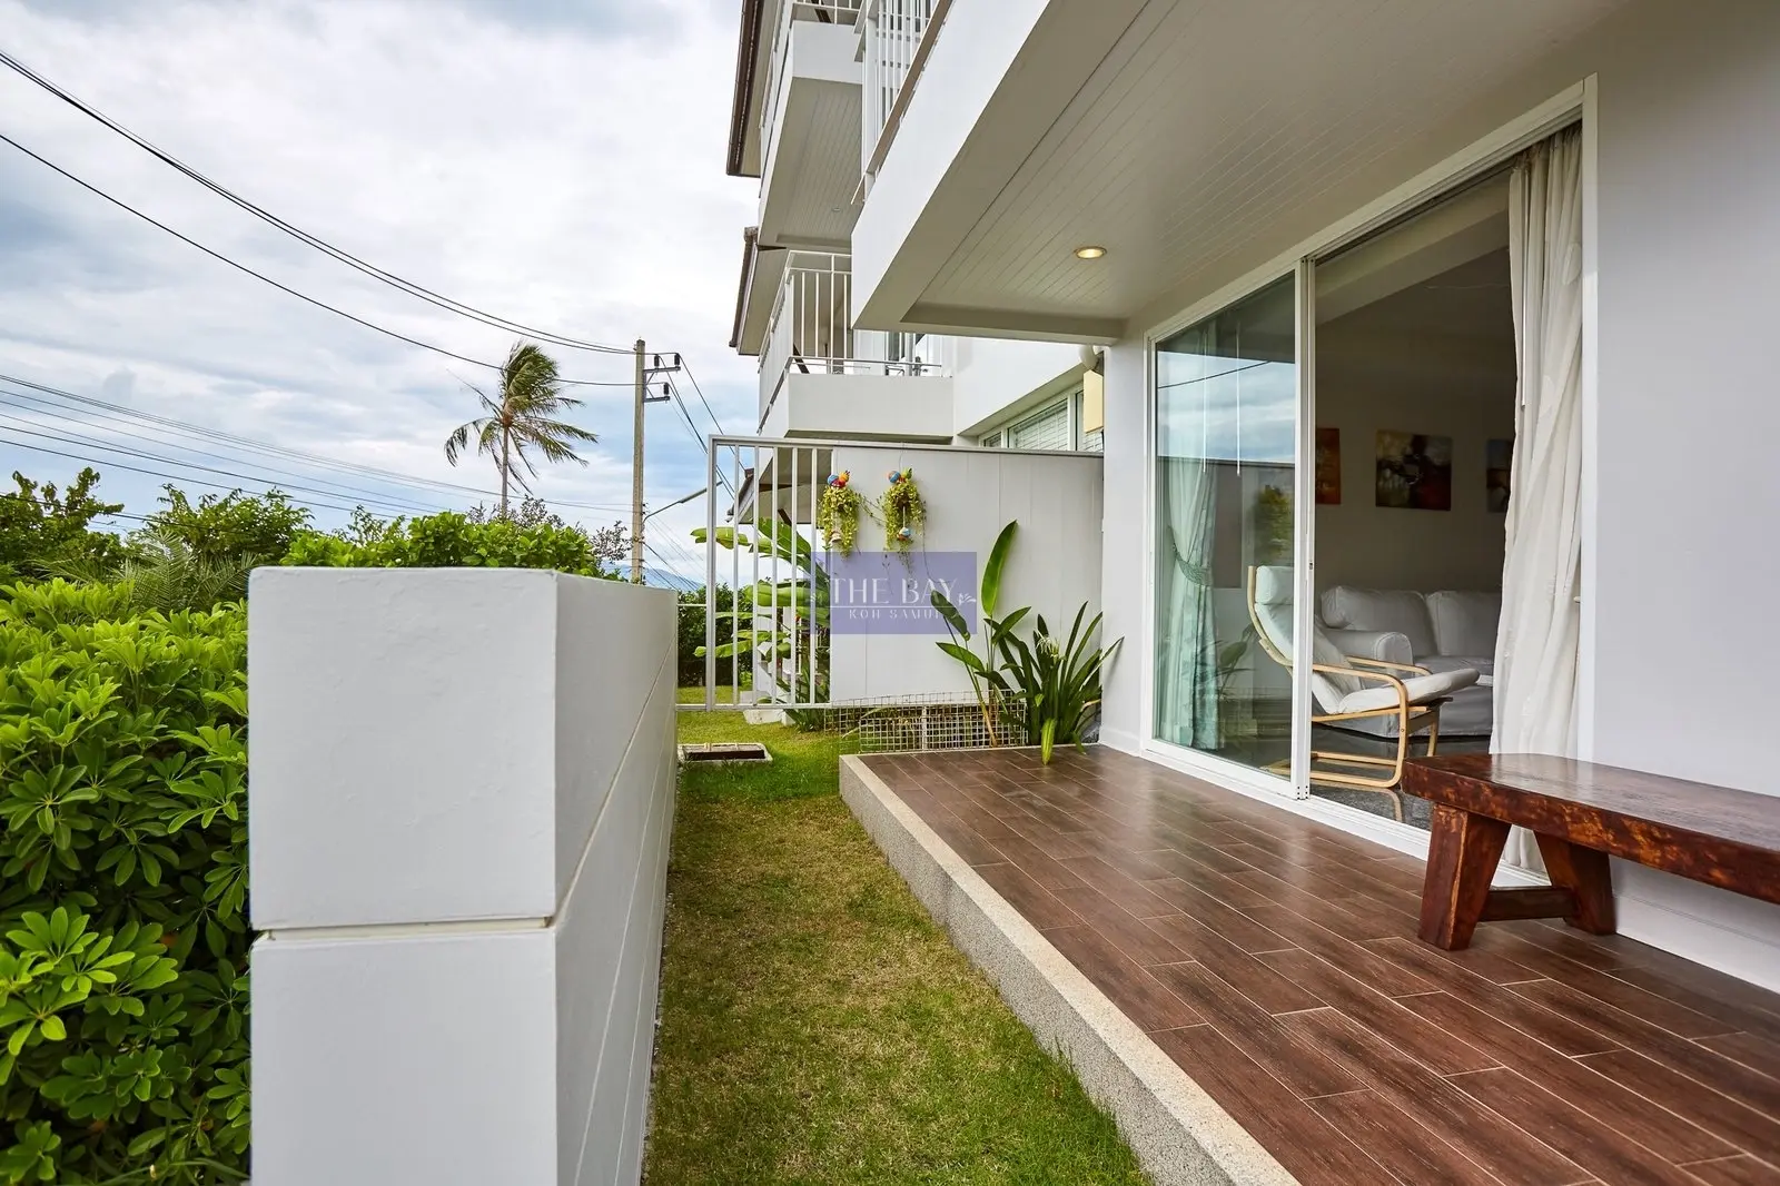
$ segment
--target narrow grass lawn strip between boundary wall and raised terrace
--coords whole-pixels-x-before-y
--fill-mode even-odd
[[[644,1175],[1145,1182],[838,796],[831,734],[680,714],[767,768],[684,775]]]

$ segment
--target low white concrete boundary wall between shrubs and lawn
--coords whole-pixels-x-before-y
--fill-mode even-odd
[[[253,575],[255,1182],[639,1181],[673,686],[662,589]]]

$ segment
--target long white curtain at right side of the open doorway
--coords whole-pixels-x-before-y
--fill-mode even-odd
[[[1575,753],[1582,504],[1582,137],[1559,132],[1509,176],[1520,390],[1508,495],[1493,753]],[[1508,858],[1543,869],[1517,828]]]

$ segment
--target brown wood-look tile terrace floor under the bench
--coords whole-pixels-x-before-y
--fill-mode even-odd
[[[1305,1186],[1780,1184],[1780,995],[1415,938],[1422,862],[1095,748],[862,759]]]

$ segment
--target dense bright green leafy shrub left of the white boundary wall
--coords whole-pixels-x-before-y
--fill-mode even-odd
[[[0,589],[0,1184],[247,1158],[246,613]]]

